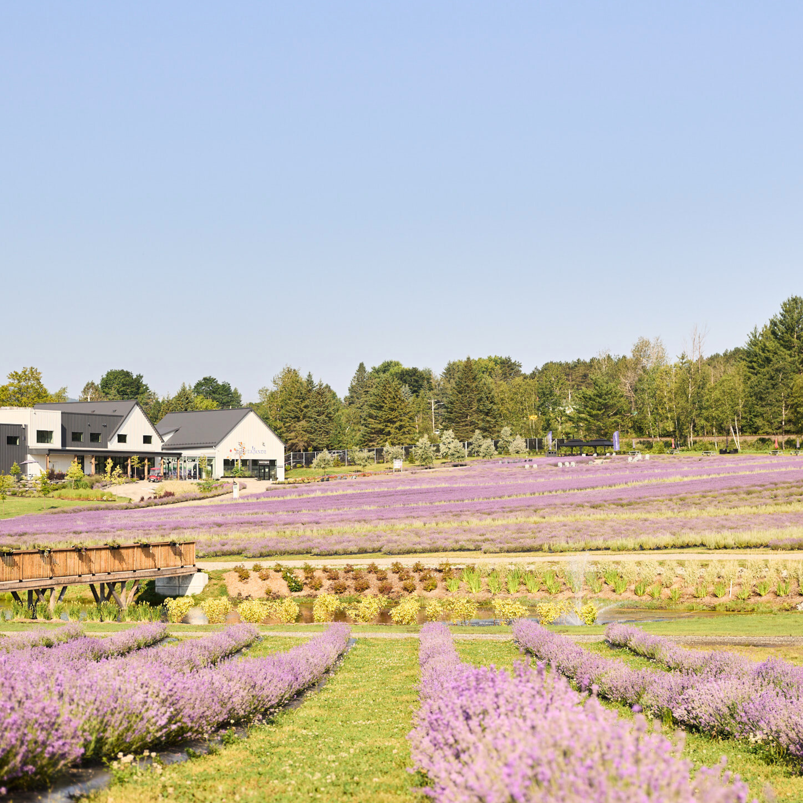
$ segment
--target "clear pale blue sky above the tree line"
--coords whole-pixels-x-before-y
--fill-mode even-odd
[[[744,343],[803,293],[799,2],[0,7],[0,372]],[[596,314],[600,312],[601,314]]]

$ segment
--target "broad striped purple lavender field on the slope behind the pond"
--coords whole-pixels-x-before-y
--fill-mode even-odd
[[[564,551],[803,537],[803,458],[478,463],[303,486],[234,502],[67,509],[3,520],[0,546],[197,540],[199,556]]]

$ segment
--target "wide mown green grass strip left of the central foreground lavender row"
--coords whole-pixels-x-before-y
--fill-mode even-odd
[[[295,711],[252,728],[249,738],[212,756],[161,772],[132,769],[93,799],[111,803],[420,800],[413,791],[415,779],[406,769],[410,765],[406,735],[418,702],[417,683],[417,639],[361,638],[336,675]]]

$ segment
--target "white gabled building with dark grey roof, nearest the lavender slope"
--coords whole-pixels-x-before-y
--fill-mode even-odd
[[[238,461],[257,479],[284,479],[284,444],[248,407],[168,413],[156,428],[165,477],[198,479],[206,459],[215,479]]]

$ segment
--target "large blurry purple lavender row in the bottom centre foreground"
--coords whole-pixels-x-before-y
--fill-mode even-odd
[[[560,675],[517,662],[512,672],[461,663],[446,626],[422,628],[421,708],[414,767],[438,803],[744,803],[738,776],[701,768],[644,717],[620,719]]]

